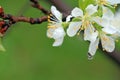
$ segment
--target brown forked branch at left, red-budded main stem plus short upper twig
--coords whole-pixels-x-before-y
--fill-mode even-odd
[[[32,6],[42,11],[45,15],[50,14],[50,11],[44,9],[38,2],[38,0],[30,0],[32,2]],[[42,22],[47,21],[47,16],[43,16],[40,18],[28,18],[24,16],[13,16],[11,14],[5,14],[3,8],[0,6],[0,18],[3,20],[0,23],[0,36],[3,36],[8,28],[17,22],[27,22],[30,24],[40,24]],[[7,20],[7,21],[6,21]],[[4,24],[3,24],[4,22]]]

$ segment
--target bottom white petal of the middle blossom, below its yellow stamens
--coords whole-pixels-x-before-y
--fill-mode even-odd
[[[97,39],[98,31],[95,31],[93,26],[89,26],[84,31],[84,40],[94,42]]]

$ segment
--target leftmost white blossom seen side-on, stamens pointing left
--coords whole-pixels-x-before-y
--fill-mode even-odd
[[[60,46],[65,36],[65,31],[62,26],[62,14],[55,6],[51,7],[51,13],[52,14],[48,16],[48,21],[50,23],[48,24],[47,36],[55,39],[53,46]]]

